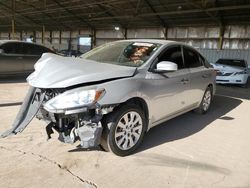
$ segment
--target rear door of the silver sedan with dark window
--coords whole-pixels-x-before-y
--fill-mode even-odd
[[[205,59],[192,48],[183,47],[184,62],[190,71],[190,90],[187,95],[190,105],[198,105],[213,77],[212,71],[205,67]]]

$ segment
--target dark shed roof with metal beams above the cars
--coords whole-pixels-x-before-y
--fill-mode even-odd
[[[249,24],[246,0],[1,0],[0,30]]]

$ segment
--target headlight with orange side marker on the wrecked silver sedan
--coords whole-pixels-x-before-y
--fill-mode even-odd
[[[68,91],[49,100],[45,103],[44,108],[49,112],[62,113],[65,110],[76,109],[93,104],[100,100],[104,94],[104,89]]]

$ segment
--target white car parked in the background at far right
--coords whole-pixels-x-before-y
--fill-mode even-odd
[[[247,84],[248,64],[243,59],[218,59],[212,64],[217,70],[216,83]]]

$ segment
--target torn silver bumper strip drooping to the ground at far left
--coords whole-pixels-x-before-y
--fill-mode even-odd
[[[0,138],[22,132],[37,114],[44,96],[45,93],[39,92],[39,89],[30,87],[16,119],[12,124],[12,128],[2,133]]]

